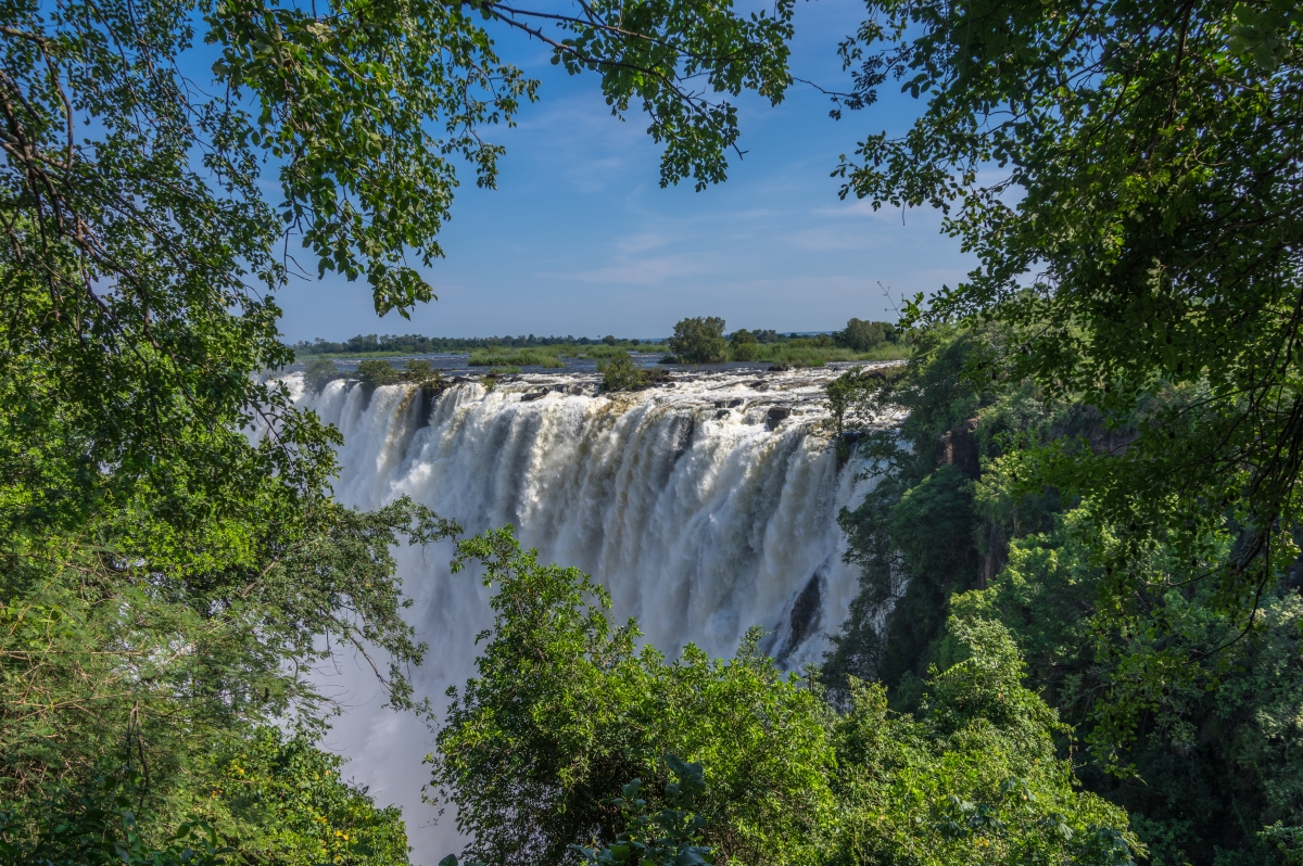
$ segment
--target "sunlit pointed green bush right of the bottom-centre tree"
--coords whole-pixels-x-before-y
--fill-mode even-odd
[[[998,624],[956,619],[966,658],[933,669],[917,719],[880,685],[852,684],[838,729],[843,811],[830,863],[1132,865],[1144,846],[1124,811],[1076,790],[1053,710],[1022,685]]]

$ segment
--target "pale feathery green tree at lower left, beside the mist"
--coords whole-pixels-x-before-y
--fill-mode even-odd
[[[154,529],[141,514],[112,517]],[[370,660],[391,705],[420,710],[405,672],[425,647],[401,617],[391,548],[456,527],[405,500],[374,513],[311,504],[288,537],[263,524],[276,517],[255,499],[248,522],[199,525],[195,537],[155,530],[126,548],[102,521],[86,538],[10,552],[0,607],[10,833],[36,832],[48,787],[77,792],[126,766],[142,780],[133,832],[163,845],[219,784],[211,755],[276,720],[310,728],[331,708],[308,671],[332,645]]]

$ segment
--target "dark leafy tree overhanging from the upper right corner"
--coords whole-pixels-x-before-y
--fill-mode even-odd
[[[926,103],[900,138],[865,139],[840,168],[843,194],[932,204],[981,262],[907,319],[999,322],[1007,340],[969,375],[1035,380],[1136,431],[1124,452],[1042,443],[1018,473],[1028,490],[1089,499],[1100,531],[1128,539],[1108,548],[1102,593],[1161,603],[1167,586],[1128,565],[1161,546],[1200,563],[1171,578],[1212,585],[1201,604],[1252,622],[1298,556],[1303,517],[1296,10],[873,0],[869,12],[842,48],[851,107],[893,74]],[[1204,564],[1218,533],[1238,543]],[[1173,656],[1151,675],[1179,668]]]

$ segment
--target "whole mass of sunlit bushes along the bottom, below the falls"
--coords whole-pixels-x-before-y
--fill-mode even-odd
[[[739,866],[1134,866],[1144,853],[1123,810],[1076,790],[1054,742],[1068,731],[1022,685],[998,622],[951,621],[952,659],[916,715],[860,682],[838,715],[817,682],[756,651],[758,629],[734,660],[688,646],[667,663],[638,647],[636,622],[610,622],[588,576],[541,565],[509,531],[463,542],[469,561],[498,590],[494,626],[431,761],[470,858],[615,863],[650,846],[657,866],[709,862],[701,848]],[[685,774],[701,774],[691,810]]]

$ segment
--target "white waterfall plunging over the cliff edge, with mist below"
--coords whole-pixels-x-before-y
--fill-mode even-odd
[[[344,434],[343,501],[374,508],[405,494],[469,533],[513,524],[543,560],[599,580],[615,616],[636,616],[667,654],[692,642],[727,656],[761,625],[762,649],[795,668],[820,659],[856,590],[837,514],[864,491],[814,432],[835,372],[684,374],[614,397],[590,375],[517,376],[491,392],[465,382],[433,401],[405,385],[367,395],[335,382],[311,396],[297,378],[289,385]],[[770,422],[775,406],[791,415]],[[399,551],[409,621],[430,645],[416,681],[440,701],[473,673],[474,634],[491,622],[487,590],[451,576],[448,559],[447,546]],[[379,802],[404,806],[413,862],[459,850],[452,815],[434,827],[420,802],[430,732],[382,710],[353,663],[326,685],[351,706],[327,745]]]

